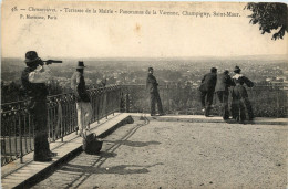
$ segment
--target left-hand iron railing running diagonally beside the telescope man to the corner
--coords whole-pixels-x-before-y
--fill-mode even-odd
[[[107,86],[89,90],[92,104],[92,122],[99,122],[120,111],[121,87]],[[1,105],[1,166],[33,150],[32,115],[27,101]],[[55,141],[76,132],[76,105],[72,93],[48,97],[49,140]]]

